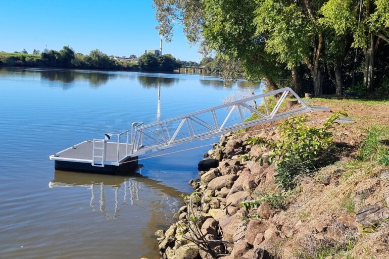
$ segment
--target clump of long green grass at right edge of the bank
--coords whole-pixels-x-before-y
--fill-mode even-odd
[[[376,161],[389,166],[388,149],[389,128],[387,126],[372,126],[367,130],[366,139],[358,149],[358,157],[362,161]]]

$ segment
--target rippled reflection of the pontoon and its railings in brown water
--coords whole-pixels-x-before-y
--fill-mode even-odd
[[[178,197],[182,192],[161,184],[159,181],[152,180],[141,175],[141,169],[131,176],[115,176],[103,174],[90,174],[56,170],[54,179],[50,181],[48,187],[85,187],[90,190],[89,205],[93,212],[100,211],[105,219],[116,219],[120,212],[128,205],[135,205],[142,201],[140,192],[143,187],[152,188],[162,192],[163,198],[159,204],[162,208],[170,208],[172,211],[177,208]],[[113,190],[113,197],[109,195]],[[112,201],[113,199],[113,201]],[[111,208],[113,203],[113,209]],[[155,208],[159,211],[158,208]]]

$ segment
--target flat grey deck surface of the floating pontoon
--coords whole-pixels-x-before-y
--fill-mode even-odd
[[[102,143],[96,143],[98,147],[101,147]],[[117,153],[118,143],[116,142],[107,142],[106,148],[106,162],[116,162],[116,153]],[[130,150],[131,144],[128,144],[128,150]],[[74,145],[74,148],[69,148],[63,152],[57,153],[57,158],[61,159],[82,159],[82,160],[92,160],[92,152],[93,152],[93,142],[86,141]],[[126,144],[120,143],[119,146],[119,162],[120,159],[125,156],[126,153]],[[95,156],[101,156],[102,150],[96,149]],[[96,161],[101,161],[100,158],[96,158]]]

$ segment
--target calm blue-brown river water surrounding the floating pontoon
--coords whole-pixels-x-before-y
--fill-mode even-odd
[[[0,68],[0,258],[159,258],[154,232],[191,191],[211,145],[144,159],[127,177],[55,171],[48,156],[246,88],[260,92],[196,74]]]

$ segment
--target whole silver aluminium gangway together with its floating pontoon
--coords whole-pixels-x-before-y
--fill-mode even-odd
[[[299,105],[285,109],[288,96],[296,98]],[[269,99],[274,98],[278,100],[273,107]],[[257,109],[257,103],[262,105],[263,112]],[[104,139],[85,140],[53,154],[50,159],[61,170],[122,172],[137,166],[136,158],[147,152],[312,111],[329,110],[308,106],[286,87],[148,125],[133,122],[130,130],[106,134]],[[253,114],[254,120],[246,120]]]

